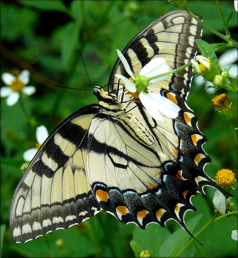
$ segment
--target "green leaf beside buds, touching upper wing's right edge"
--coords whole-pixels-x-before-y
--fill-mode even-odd
[[[212,69],[214,70],[214,75],[220,74],[222,72],[222,69],[219,67],[217,56],[213,52],[211,46],[201,39],[195,40],[196,44],[202,51],[202,55],[206,58],[210,58],[210,61],[212,63]]]

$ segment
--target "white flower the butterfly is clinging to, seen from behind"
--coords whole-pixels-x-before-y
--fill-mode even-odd
[[[123,84],[125,84],[126,89],[132,93],[139,92],[140,102],[155,120],[164,121],[161,113],[169,118],[176,118],[180,108],[171,100],[153,92],[148,92],[147,89],[150,83],[159,82],[167,77],[167,75],[165,75],[150,80],[151,77],[158,76],[170,71],[170,67],[166,64],[165,59],[160,57],[152,59],[141,69],[139,76],[136,76],[133,74],[133,72],[131,72],[126,58],[118,49],[117,53],[126,69],[126,72],[132,78],[132,80],[129,80],[123,75],[115,75],[121,79]]]

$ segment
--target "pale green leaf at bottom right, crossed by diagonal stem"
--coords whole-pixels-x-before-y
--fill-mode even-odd
[[[202,218],[202,214],[195,216],[190,219],[186,224],[190,229],[190,232],[193,231],[195,226],[198,224],[200,219]],[[172,235],[170,235],[167,240],[162,244],[159,250],[159,257],[175,257],[179,251],[185,246],[187,241],[189,240],[190,235],[183,229],[177,229]]]

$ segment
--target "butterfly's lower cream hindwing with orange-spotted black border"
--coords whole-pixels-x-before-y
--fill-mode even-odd
[[[170,160],[164,153],[143,143],[145,133],[153,138],[145,124],[147,132],[138,132],[139,141],[123,121],[98,114],[90,127],[87,167],[95,199],[124,224],[145,229],[151,222],[165,227],[168,219],[175,219],[187,230],[181,214],[195,210],[189,202],[195,190],[165,170],[164,163]],[[129,121],[126,126],[138,129]]]

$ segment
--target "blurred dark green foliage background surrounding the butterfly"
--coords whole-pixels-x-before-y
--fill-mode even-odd
[[[220,1],[229,22],[231,36],[237,40],[237,12],[233,1]],[[203,21],[224,33],[215,1],[187,1],[188,8],[203,17]],[[19,102],[12,107],[1,99],[1,241],[4,257],[129,257],[134,256],[130,240],[139,251],[148,249],[158,257],[162,243],[179,228],[175,221],[167,227],[148,225],[146,230],[134,224],[123,225],[115,217],[102,211],[82,224],[65,230],[51,232],[44,237],[15,244],[9,230],[9,207],[15,187],[21,178],[23,153],[35,147],[35,131],[44,125],[50,133],[62,120],[79,108],[97,103],[91,91],[53,87],[62,86],[93,89],[87,79],[82,59],[75,49],[82,52],[87,73],[93,86],[108,83],[111,69],[117,59],[116,48],[123,50],[127,43],[145,26],[166,12],[175,10],[165,6],[165,1],[1,1],[1,74],[11,70],[30,71],[28,85],[36,87],[32,96],[24,96],[29,115],[36,120],[30,125]],[[208,43],[223,42],[208,30],[203,31]],[[219,57],[223,52],[217,53]],[[1,86],[4,83],[1,81]],[[204,85],[193,81],[188,105],[199,118],[199,128],[208,138],[204,150],[212,163],[206,173],[215,179],[217,170],[228,168],[237,174],[237,147],[226,121],[222,121],[211,104],[215,95],[226,93],[232,102],[237,127],[237,93],[220,90],[208,94]],[[237,189],[237,182],[235,183]],[[193,234],[198,232],[213,216],[212,197],[215,190],[205,188],[207,198],[192,198],[196,212],[187,212],[185,222],[203,214]],[[237,194],[231,198],[237,210]],[[6,225],[6,227],[4,226]],[[237,229],[237,217],[220,220],[209,227],[198,240],[204,248],[199,252],[194,245],[183,254],[185,257],[236,257],[237,242],[231,231]],[[5,232],[4,232],[5,230]],[[62,239],[61,244],[57,245]]]

